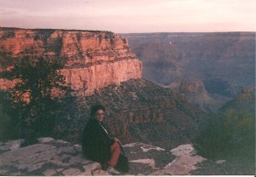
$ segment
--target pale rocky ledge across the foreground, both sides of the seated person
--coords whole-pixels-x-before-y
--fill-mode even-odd
[[[22,140],[0,143],[0,175],[110,175],[99,163],[83,156],[80,145],[52,138],[40,138],[38,144],[20,147]],[[195,164],[205,160],[195,156],[191,145],[166,151],[143,143],[124,145],[129,158],[128,175],[190,174]]]

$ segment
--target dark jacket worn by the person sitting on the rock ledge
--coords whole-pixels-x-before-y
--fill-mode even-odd
[[[111,146],[114,140],[102,128],[102,123],[90,118],[86,124],[82,137],[84,156],[98,163],[107,163],[111,157]]]

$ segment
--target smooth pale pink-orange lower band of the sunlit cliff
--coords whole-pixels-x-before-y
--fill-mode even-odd
[[[63,69],[61,73],[75,90],[73,95],[90,95],[95,89],[109,84],[119,85],[131,78],[142,77],[142,64],[138,60],[119,60],[86,68]]]

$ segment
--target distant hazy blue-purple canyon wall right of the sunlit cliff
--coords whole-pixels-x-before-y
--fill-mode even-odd
[[[255,32],[121,34],[143,62],[143,78],[169,85],[201,81],[210,94],[235,97],[255,85]]]

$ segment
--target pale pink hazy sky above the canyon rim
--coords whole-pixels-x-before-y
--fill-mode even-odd
[[[255,31],[256,0],[0,0],[0,26],[140,32]]]

